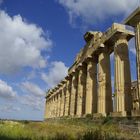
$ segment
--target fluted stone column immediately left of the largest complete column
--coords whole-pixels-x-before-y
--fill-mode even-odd
[[[110,55],[108,50],[102,49],[98,56],[98,113],[103,116],[113,111]]]

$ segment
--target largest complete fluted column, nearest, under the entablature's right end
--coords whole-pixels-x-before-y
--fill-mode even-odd
[[[132,109],[132,97],[128,41],[125,35],[120,35],[116,40],[114,56],[116,112],[126,116]]]

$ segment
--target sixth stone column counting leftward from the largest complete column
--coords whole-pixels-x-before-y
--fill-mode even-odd
[[[69,75],[67,77],[67,82],[66,82],[65,115],[64,116],[70,115],[71,84],[72,84],[72,77]]]

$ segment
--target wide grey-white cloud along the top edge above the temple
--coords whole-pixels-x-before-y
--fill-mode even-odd
[[[126,15],[138,6],[138,0],[57,0],[63,5],[71,22],[81,17],[85,23],[95,23],[109,16]]]

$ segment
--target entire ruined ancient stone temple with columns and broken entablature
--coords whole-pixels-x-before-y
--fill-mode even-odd
[[[134,27],[135,33],[125,25]],[[131,82],[128,42],[135,37],[137,81]],[[140,116],[140,8],[106,32],[89,31],[68,75],[46,95],[45,119]],[[110,55],[114,53],[114,93]],[[113,96],[114,95],[114,96]]]

